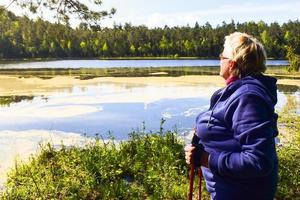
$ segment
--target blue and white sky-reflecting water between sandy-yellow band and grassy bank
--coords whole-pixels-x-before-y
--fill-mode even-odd
[[[9,107],[0,107],[0,130],[57,130],[104,137],[112,131],[117,139],[126,139],[132,129],[145,122],[148,130],[165,128],[179,131],[194,126],[196,115],[207,109],[212,93],[219,86],[210,84],[159,84],[98,82],[57,90],[47,96],[18,99]],[[299,87],[278,85],[280,110],[286,93],[299,95]]]

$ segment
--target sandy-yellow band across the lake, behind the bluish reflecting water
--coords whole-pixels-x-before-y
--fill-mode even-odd
[[[74,86],[97,84],[132,84],[132,85],[214,85],[224,87],[223,78],[217,75],[186,75],[178,77],[149,76],[149,77],[96,77],[81,80],[77,76],[55,75],[50,79],[38,77],[19,77],[18,75],[0,75],[0,94],[5,95],[47,95],[49,93],[71,89]],[[300,79],[278,79],[277,84],[299,86]]]

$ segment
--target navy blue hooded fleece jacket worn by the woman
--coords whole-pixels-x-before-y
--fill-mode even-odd
[[[210,154],[202,167],[217,200],[271,200],[277,185],[276,79],[247,76],[214,93],[196,118],[196,135]]]

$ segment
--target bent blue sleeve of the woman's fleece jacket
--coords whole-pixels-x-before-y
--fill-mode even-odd
[[[209,167],[221,176],[255,178],[274,167],[276,157],[273,123],[274,108],[256,94],[242,94],[228,107],[225,121],[231,123],[240,151],[215,152]]]

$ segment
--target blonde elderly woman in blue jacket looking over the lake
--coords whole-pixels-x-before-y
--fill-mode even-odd
[[[252,36],[235,32],[225,37],[220,76],[227,86],[213,94],[210,108],[196,118],[194,137],[204,150],[185,148],[186,162],[201,166],[214,200],[274,198],[277,89],[276,79],[262,74],[265,63],[265,50]]]

